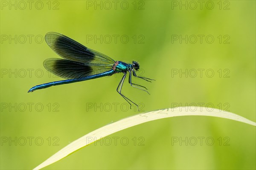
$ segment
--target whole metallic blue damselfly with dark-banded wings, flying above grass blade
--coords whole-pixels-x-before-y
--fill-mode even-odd
[[[94,51],[90,48],[81,45],[79,42],[56,32],[49,32],[45,35],[45,41],[63,59],[49,58],[44,61],[44,67],[58,77],[66,80],[49,82],[42,85],[36,85],[29,89],[32,92],[42,88],[48,88],[54,85],[63,85],[73,82],[81,82],[99,77],[111,76],[116,73],[123,73],[123,77],[116,88],[116,91],[131,105],[133,103],[138,108],[139,106],[128,99],[121,93],[122,85],[127,72],[129,72],[128,82],[132,87],[146,91],[148,89],[142,85],[131,82],[131,74],[134,77],[144,79],[151,82],[146,77],[137,76],[134,70],[140,68],[138,62],[133,61],[132,64],[127,64],[121,61],[115,61],[112,58]],[[141,88],[140,88],[141,87]],[[144,88],[144,89],[143,89]],[[148,93],[149,94],[149,93]],[[131,107],[130,107],[131,108]]]

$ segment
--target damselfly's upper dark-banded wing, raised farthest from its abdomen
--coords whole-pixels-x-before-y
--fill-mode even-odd
[[[105,54],[89,49],[79,42],[56,32],[48,32],[45,35],[45,41],[55,53],[70,61],[81,62],[90,66],[103,66],[110,69],[115,63],[113,59]]]

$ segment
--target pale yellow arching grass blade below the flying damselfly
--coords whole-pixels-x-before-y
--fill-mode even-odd
[[[186,107],[182,107],[182,110],[184,110],[184,108]],[[44,161],[43,163],[35,167],[34,170],[39,170],[43,167],[48,166],[49,164],[59,161],[60,159],[63,159],[64,157],[75,152],[76,150],[79,150],[82,147],[85,147],[95,142],[96,140],[99,140],[112,133],[118,132],[120,130],[129,128],[129,127],[133,127],[135,125],[139,125],[145,122],[157,120],[157,119],[163,119],[163,118],[175,117],[175,116],[214,116],[214,117],[221,117],[225,119],[236,120],[239,122],[256,126],[256,122],[250,121],[235,113],[222,111],[219,109],[213,109],[209,111],[209,108],[207,109],[204,107],[200,108],[200,110],[197,107],[189,107],[189,108],[187,107],[186,111],[180,111],[180,110],[181,108],[168,108],[168,109],[161,109],[157,111],[151,111],[147,113],[140,113],[134,116],[127,117],[125,119],[121,119],[117,122],[113,122],[106,126],[103,126],[77,139],[76,141],[68,144],[66,147],[59,150],[49,159],[47,159],[46,161]]]

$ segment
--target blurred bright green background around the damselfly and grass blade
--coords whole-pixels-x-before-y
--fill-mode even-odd
[[[79,137],[143,111],[195,103],[255,122],[255,5],[2,0],[0,168],[32,169]],[[128,80],[123,93],[142,111],[127,109],[116,93],[121,74],[28,94],[34,85],[61,80],[43,66],[47,58],[60,58],[42,40],[49,31],[115,60],[138,61],[138,74],[157,81],[133,80],[151,95],[131,88]],[[182,71],[188,76],[180,76]],[[45,169],[256,169],[255,134],[255,127],[228,119],[161,119],[114,133]],[[180,143],[186,139],[187,145]]]

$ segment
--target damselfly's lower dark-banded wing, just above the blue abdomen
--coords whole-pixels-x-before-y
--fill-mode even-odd
[[[44,67],[52,74],[64,79],[79,79],[104,73],[112,69],[103,66],[85,65],[81,62],[57,58],[46,59],[44,61]]]

